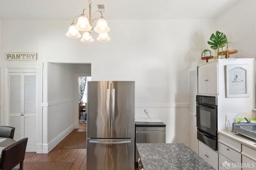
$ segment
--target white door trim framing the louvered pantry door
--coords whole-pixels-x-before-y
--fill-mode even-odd
[[[36,153],[42,153],[42,71],[43,63],[0,62],[0,125],[8,125],[8,72],[36,72],[37,114],[36,114]]]

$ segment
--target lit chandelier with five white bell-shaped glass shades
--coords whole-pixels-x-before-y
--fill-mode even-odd
[[[73,23],[68,28],[68,32],[66,33],[67,37],[70,38],[80,38],[81,34],[79,31],[83,31],[83,35],[80,41],[83,43],[91,43],[94,41],[92,38],[92,30],[94,30],[96,33],[99,33],[99,36],[97,38],[98,41],[106,42],[109,41],[110,38],[108,37],[108,32],[110,31],[110,28],[108,27],[107,21],[104,20],[104,17],[102,16],[101,11],[96,11],[93,16],[91,16],[91,10],[92,10],[92,1],[89,0],[89,13],[86,9],[83,10],[83,14],[80,16],[76,16],[73,20]],[[86,11],[88,18],[86,18],[86,15],[84,12]],[[95,18],[94,16],[100,13],[100,18]],[[75,20],[78,18],[77,23],[74,23]],[[96,27],[93,27],[94,20],[98,20]]]

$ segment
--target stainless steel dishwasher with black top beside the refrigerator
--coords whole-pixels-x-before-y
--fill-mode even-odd
[[[163,122],[135,122],[136,143],[165,143],[166,124]],[[138,150],[135,146],[135,167],[138,164]]]

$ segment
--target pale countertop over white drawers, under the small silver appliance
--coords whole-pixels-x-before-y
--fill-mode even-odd
[[[223,135],[229,139],[232,139],[238,143],[241,143],[241,144],[245,145],[246,147],[256,150],[256,141],[254,141],[253,139],[250,139],[244,135],[234,133],[234,132],[229,132],[229,131],[218,131],[218,134]]]

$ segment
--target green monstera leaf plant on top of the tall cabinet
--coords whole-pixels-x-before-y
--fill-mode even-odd
[[[221,56],[223,55],[223,47],[227,44],[227,49],[228,49],[228,39],[226,35],[222,32],[216,31],[216,35],[212,33],[210,37],[211,41],[207,41],[209,45],[212,45],[211,48],[214,50],[218,50],[217,54],[219,55],[219,50],[220,48],[222,49]],[[226,52],[228,55],[228,51]]]

